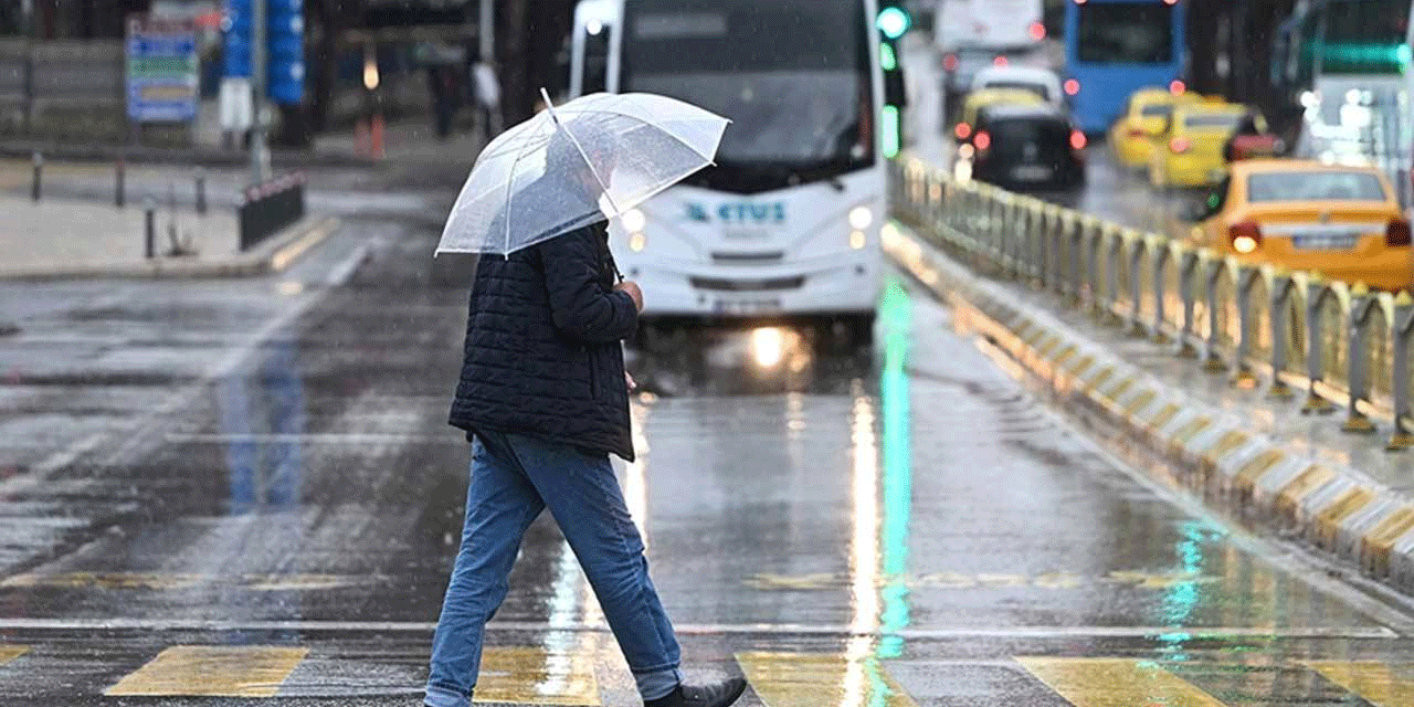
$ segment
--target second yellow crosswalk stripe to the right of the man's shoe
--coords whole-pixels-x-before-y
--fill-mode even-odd
[[[1148,660],[1018,658],[1017,662],[1075,707],[1223,707],[1208,693]]]

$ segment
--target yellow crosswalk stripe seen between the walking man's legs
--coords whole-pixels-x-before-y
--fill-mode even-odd
[[[543,648],[486,648],[481,653],[477,701],[590,706],[600,703],[594,653],[549,653]]]

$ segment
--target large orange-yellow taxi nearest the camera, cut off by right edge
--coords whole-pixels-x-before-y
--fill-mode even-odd
[[[1233,163],[1193,216],[1196,240],[1244,262],[1380,290],[1414,286],[1410,223],[1389,180],[1370,167]]]

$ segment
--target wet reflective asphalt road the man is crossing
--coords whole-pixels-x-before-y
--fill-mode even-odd
[[[0,704],[417,704],[468,464],[436,236],[0,284]],[[885,312],[872,352],[631,352],[622,482],[691,676],[771,707],[1411,704],[1408,614],[1141,484],[922,290]],[[489,635],[479,699],[635,704],[546,518]]]

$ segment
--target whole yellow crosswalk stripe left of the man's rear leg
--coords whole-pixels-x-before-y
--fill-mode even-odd
[[[106,696],[274,697],[307,648],[173,646]]]

